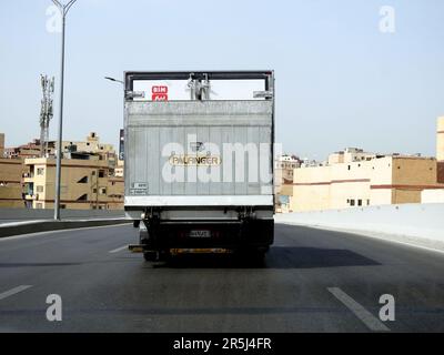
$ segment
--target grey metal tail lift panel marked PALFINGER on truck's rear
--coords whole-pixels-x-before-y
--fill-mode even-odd
[[[242,199],[248,195],[261,195],[263,191],[268,191],[264,187],[271,186],[271,182],[261,181],[259,169],[255,171],[258,181],[246,180],[251,160],[251,156],[246,154],[243,165],[244,180],[241,182],[234,181],[234,171],[231,182],[204,183],[199,179],[198,182],[186,180],[168,182],[162,174],[162,170],[168,168],[184,169],[188,174],[196,173],[198,170],[210,171],[210,169],[202,165],[169,166],[169,156],[162,156],[162,150],[167,144],[175,142],[183,146],[181,154],[185,155],[190,152],[190,138],[195,135],[196,142],[192,143],[219,145],[221,159],[224,162],[228,156],[223,156],[223,143],[241,143],[243,146],[253,143],[258,149],[260,143],[272,144],[273,101],[141,102],[128,100],[125,112],[125,201],[142,203],[143,191],[131,190],[131,186],[137,183],[148,183],[147,195],[150,196],[216,197],[226,195],[230,197],[238,195]],[[259,156],[254,159],[259,160]],[[223,164],[220,166],[221,179],[223,166]],[[272,169],[271,159],[269,168]],[[272,189],[265,195],[272,195]],[[253,200],[245,200],[246,205],[252,202]]]

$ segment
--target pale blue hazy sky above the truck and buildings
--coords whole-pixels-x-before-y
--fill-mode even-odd
[[[40,135],[40,73],[56,77],[56,139],[53,10],[50,0],[0,0],[7,146]],[[65,45],[64,140],[95,131],[118,148],[122,87],[105,75],[274,69],[276,142],[285,152],[323,160],[359,146],[435,155],[444,115],[442,0],[78,0]]]

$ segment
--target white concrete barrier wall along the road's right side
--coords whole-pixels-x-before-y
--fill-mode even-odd
[[[397,204],[275,215],[276,223],[343,230],[422,246],[444,245],[444,203]],[[395,239],[390,237],[397,236]]]

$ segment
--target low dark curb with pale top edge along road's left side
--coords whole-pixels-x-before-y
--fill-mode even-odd
[[[130,223],[124,219],[107,219],[107,220],[69,220],[69,221],[36,221],[36,222],[23,222],[23,223],[8,223],[0,226],[0,237],[60,231],[70,229],[82,229],[101,225],[114,225]]]

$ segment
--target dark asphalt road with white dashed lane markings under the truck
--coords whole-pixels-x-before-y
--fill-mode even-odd
[[[130,225],[0,240],[1,332],[444,332],[444,254],[276,225],[263,265],[145,263]],[[62,321],[46,318],[49,294]],[[380,296],[395,321],[379,318]]]

